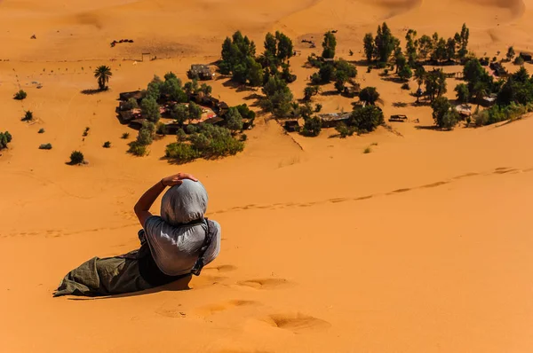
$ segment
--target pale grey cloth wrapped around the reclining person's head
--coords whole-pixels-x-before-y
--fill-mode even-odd
[[[167,224],[179,226],[203,219],[207,210],[207,191],[200,182],[184,179],[172,186],[161,200],[161,218]]]

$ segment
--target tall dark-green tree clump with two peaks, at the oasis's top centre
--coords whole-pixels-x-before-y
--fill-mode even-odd
[[[271,76],[286,82],[296,80],[290,74],[289,59],[294,53],[292,41],[282,32],[267,33],[265,51],[256,58],[256,45],[248,36],[237,31],[222,43],[220,73],[232,75],[235,82],[259,87],[268,82]],[[281,70],[280,70],[281,68]]]

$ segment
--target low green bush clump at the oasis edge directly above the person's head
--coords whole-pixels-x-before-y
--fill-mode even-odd
[[[179,129],[177,142],[167,145],[165,156],[179,163],[185,163],[197,158],[209,159],[232,155],[243,151],[243,148],[243,142],[236,139],[229,129],[212,124],[189,125],[187,133]]]

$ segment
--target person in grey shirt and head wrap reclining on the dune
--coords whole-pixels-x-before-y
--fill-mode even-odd
[[[161,216],[149,209],[167,186]],[[145,192],[135,205],[143,229],[140,248],[128,254],[82,263],[63,278],[54,296],[123,294],[163,286],[199,275],[220,251],[220,225],[205,218],[208,196],[195,176],[167,176]]]

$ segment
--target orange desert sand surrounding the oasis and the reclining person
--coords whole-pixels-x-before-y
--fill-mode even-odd
[[[115,106],[153,75],[185,79],[191,63],[219,59],[237,29],[259,49],[267,31],[292,37],[301,55],[290,88],[301,98],[313,73],[306,57],[320,52],[302,38],[321,43],[338,29],[338,57],[351,49],[362,59],[362,35],[383,20],[399,37],[406,27],[449,36],[466,22],[471,49],[492,57],[533,49],[532,11],[530,0],[0,1],[0,130],[13,135],[0,156],[0,351],[530,351],[533,119],[420,129],[433,124],[431,108],[358,67],[386,117],[419,123],[341,140],[333,129],[287,135],[262,115],[243,153],[176,166],[161,159],[171,136],[147,157],[125,153],[136,131]],[[109,47],[121,38],[135,43]],[[141,52],[157,59],[140,61]],[[99,65],[112,67],[111,89],[82,94]],[[230,105],[255,93],[212,86]],[[28,98],[12,99],[20,88]],[[334,112],[352,99],[314,101]],[[20,122],[28,109],[35,123]],[[51,151],[37,149],[48,142]],[[66,165],[73,150],[89,164]],[[219,258],[192,289],[52,298],[78,264],[138,246],[135,201],[178,171],[203,181],[208,216],[223,229]]]

